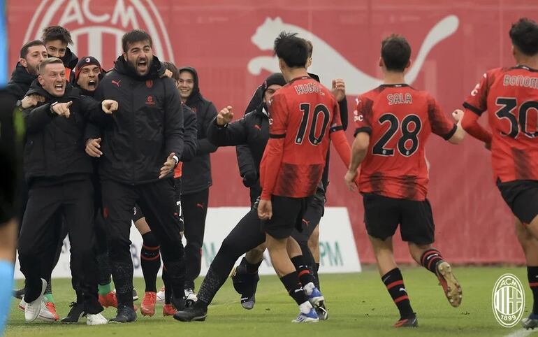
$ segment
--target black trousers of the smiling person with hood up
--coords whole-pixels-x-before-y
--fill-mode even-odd
[[[200,275],[205,217],[208,215],[209,189],[182,194],[181,206],[185,227],[185,288],[194,289],[194,280]]]

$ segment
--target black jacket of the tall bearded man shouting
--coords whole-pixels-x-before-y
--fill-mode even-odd
[[[159,180],[171,152],[183,151],[180,94],[170,78],[159,78],[161,62],[153,57],[150,71],[138,76],[122,56],[97,87],[98,100],[114,99],[118,110],[101,124],[99,174],[129,185]],[[173,173],[170,173],[170,177]]]

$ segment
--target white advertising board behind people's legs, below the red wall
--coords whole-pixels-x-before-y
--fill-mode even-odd
[[[222,241],[235,227],[235,224],[247,214],[247,207],[210,207],[205,222],[205,238],[202,247],[201,275],[208,272],[208,268],[219,251]],[[131,226],[131,257],[133,259],[134,276],[142,277],[140,268],[140,248],[142,236],[134,226]],[[183,239],[183,243],[185,243]],[[69,278],[69,241],[64,240],[59,262],[52,272],[53,278]],[[321,219],[319,236],[320,273],[352,273],[361,271],[351,222],[347,208],[327,207]],[[264,263],[260,266],[262,275],[274,275],[270,257],[266,251],[263,254]],[[240,259],[238,259],[238,262]],[[160,272],[159,272],[160,275]],[[15,278],[24,278],[20,266],[15,265]]]

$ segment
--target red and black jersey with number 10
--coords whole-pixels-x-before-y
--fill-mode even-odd
[[[343,133],[335,97],[305,76],[278,89],[268,108],[269,141],[260,165],[261,199],[314,195],[325,167],[329,136],[333,131]]]

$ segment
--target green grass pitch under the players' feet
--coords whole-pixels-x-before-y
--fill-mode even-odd
[[[298,308],[287,296],[274,275],[263,276],[258,285],[256,306],[245,310],[239,296],[227,281],[209,308],[205,322],[183,323],[163,317],[157,305],[154,317],[142,317],[130,324],[107,324],[89,327],[79,324],[24,323],[24,314],[13,301],[6,336],[528,336],[521,325],[507,329],[495,321],[491,308],[491,292],[495,281],[504,273],[514,273],[525,288],[525,316],[532,308],[532,294],[527,285],[526,269],[513,267],[455,267],[463,287],[463,302],[452,308],[444,298],[437,279],[424,268],[402,268],[405,286],[419,318],[418,328],[395,329],[398,310],[392,303],[373,268],[363,273],[321,275],[321,290],[326,297],[329,320],[316,324],[292,324]],[[196,285],[199,285],[198,279]],[[21,282],[18,282],[21,285]],[[158,283],[159,285],[159,283]],[[135,280],[140,298],[143,279]],[[60,317],[68,313],[73,301],[71,280],[53,280],[52,288]],[[140,304],[140,301],[137,301]],[[103,315],[115,315],[108,308]],[[537,330],[538,332],[538,330]],[[537,334],[538,335],[538,334]]]

